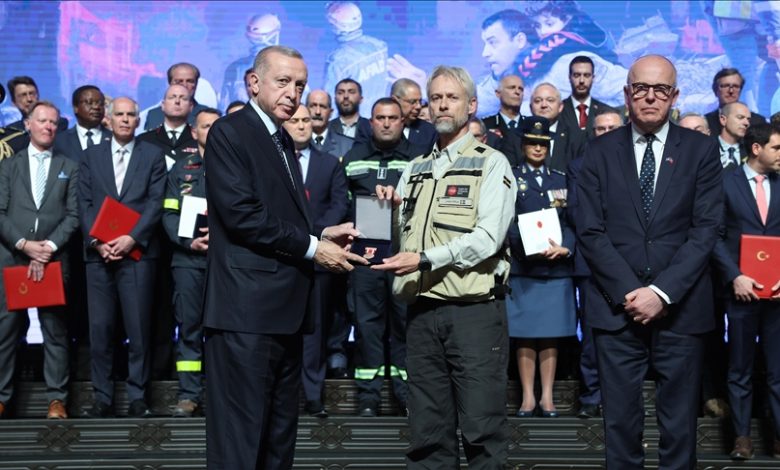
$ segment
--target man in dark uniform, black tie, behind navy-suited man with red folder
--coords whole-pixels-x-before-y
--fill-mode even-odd
[[[185,154],[198,151],[198,143],[192,138],[192,128],[187,122],[192,111],[192,95],[183,85],[171,85],[165,90],[162,101],[163,123],[138,136],[139,142],[148,142],[163,150],[168,170],[184,158]],[[203,106],[201,108],[204,108]]]

